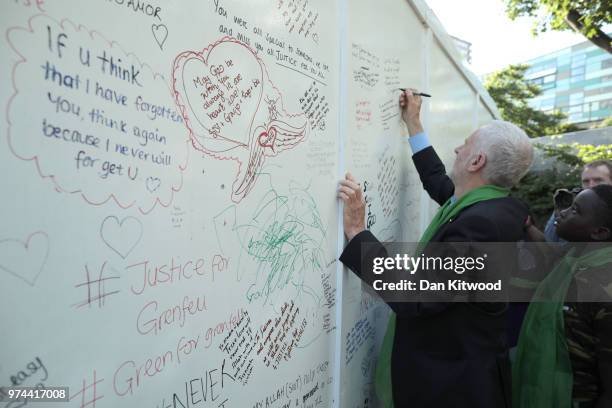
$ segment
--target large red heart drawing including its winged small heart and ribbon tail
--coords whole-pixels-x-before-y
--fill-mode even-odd
[[[238,161],[234,202],[254,187],[266,157],[295,147],[309,130],[303,113],[285,112],[257,53],[230,37],[179,54],[173,88],[193,146],[215,159]]]

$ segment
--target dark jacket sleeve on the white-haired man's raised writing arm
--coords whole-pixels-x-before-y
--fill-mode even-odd
[[[455,193],[455,185],[446,175],[446,168],[434,148],[430,146],[415,153],[412,161],[427,194],[443,205]]]

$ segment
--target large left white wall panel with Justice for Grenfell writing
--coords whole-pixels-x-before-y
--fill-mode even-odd
[[[0,386],[70,387],[53,406],[331,405],[335,4],[0,15]]]

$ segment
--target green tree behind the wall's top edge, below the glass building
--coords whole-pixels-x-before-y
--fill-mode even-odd
[[[484,87],[497,104],[502,119],[522,128],[529,137],[558,135],[578,130],[574,125],[561,123],[561,112],[546,113],[529,106],[529,100],[540,95],[540,87],[525,80],[529,65],[510,65],[489,75]]]

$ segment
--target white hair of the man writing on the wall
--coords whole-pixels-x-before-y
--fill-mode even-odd
[[[478,129],[476,149],[487,158],[482,178],[499,187],[518,184],[533,161],[533,146],[527,134],[503,120],[494,120]]]

